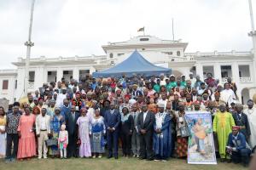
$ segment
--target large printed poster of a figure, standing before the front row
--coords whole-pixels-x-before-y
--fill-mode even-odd
[[[206,111],[186,111],[185,120],[190,133],[188,163],[217,164],[211,113]]]

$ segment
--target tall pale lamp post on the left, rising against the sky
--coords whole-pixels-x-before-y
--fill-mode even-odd
[[[24,80],[24,95],[25,96],[27,95],[27,88],[28,88],[29,60],[30,60],[31,48],[32,48],[32,46],[34,46],[34,42],[31,41],[34,5],[35,5],[35,0],[32,0],[30,24],[29,24],[29,31],[28,31],[28,41],[25,42],[25,45],[26,45],[26,66],[25,66],[25,80]]]

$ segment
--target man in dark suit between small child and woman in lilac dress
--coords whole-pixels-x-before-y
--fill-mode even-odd
[[[79,112],[76,112],[76,106],[71,106],[71,111],[66,113],[66,129],[68,132],[68,144],[67,144],[67,157],[77,157],[77,142],[78,142],[78,126],[77,121],[79,118]]]

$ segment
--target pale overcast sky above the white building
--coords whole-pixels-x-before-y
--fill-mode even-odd
[[[0,70],[26,57],[31,2],[0,0]],[[102,45],[136,37],[143,26],[147,35],[172,39],[172,18],[175,39],[189,42],[186,52],[253,48],[247,0],[36,0],[31,57],[105,54]]]

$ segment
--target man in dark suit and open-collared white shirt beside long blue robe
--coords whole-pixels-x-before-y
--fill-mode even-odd
[[[137,129],[140,138],[140,159],[153,160],[154,114],[148,111],[148,105],[142,106],[143,112],[138,116]],[[147,153],[146,153],[147,152]]]

